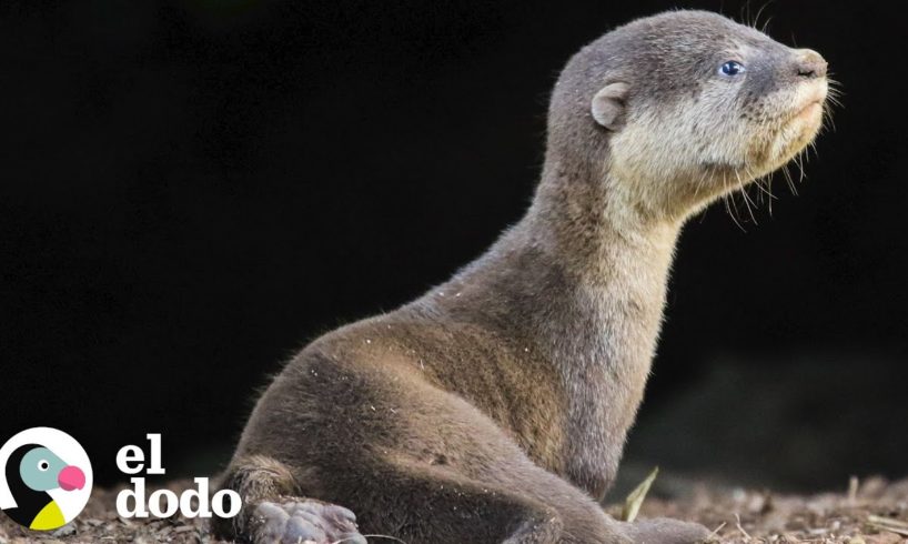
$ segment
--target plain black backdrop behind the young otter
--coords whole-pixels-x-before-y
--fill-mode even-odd
[[[632,18],[760,2],[0,4],[0,441],[99,481],[164,436],[216,470],[306,340],[446,279],[516,221],[549,88]],[[845,91],[798,197],[686,228],[628,466],[748,485],[908,474],[904,19],[776,1]],[[646,70],[647,67],[639,67]],[[754,192],[756,195],[756,193]]]

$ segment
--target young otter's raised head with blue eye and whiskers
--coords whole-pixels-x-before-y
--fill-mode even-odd
[[[683,219],[803,151],[827,92],[819,53],[716,13],[667,12],[571,60],[552,98],[549,145],[598,164],[623,208]]]

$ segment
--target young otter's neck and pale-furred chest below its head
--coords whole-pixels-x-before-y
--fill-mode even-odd
[[[505,256],[511,278],[497,285],[505,304],[533,313],[522,315],[522,335],[533,339],[565,391],[564,471],[594,496],[614,478],[643,399],[682,226],[629,205],[607,175],[547,161],[527,215],[503,239],[505,250],[493,250],[533,253]],[[510,285],[534,292],[508,292]],[[503,313],[521,315],[512,310]]]

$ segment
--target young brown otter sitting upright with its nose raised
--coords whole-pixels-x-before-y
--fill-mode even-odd
[[[302,350],[259,400],[216,531],[255,543],[674,543],[601,507],[643,399],[675,241],[823,124],[826,61],[702,11],[567,63],[525,216],[448,282]],[[355,513],[355,515],[354,515]]]

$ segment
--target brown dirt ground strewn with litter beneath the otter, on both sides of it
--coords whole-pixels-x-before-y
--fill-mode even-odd
[[[844,483],[843,493],[813,496],[775,495],[745,490],[695,487],[685,498],[647,498],[640,517],[672,516],[695,520],[715,530],[714,542],[728,543],[848,543],[908,542],[908,481],[881,478]],[[180,490],[181,483],[171,484]],[[95,492],[85,511],[70,525],[49,534],[29,533],[0,515],[0,544],[70,543],[218,543],[204,522],[179,517],[154,521],[117,516],[115,492]],[[608,507],[621,512],[621,505]],[[393,542],[370,538],[370,542]],[[468,543],[465,543],[468,544]]]

